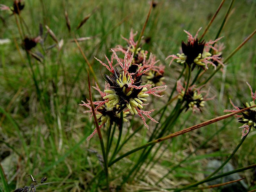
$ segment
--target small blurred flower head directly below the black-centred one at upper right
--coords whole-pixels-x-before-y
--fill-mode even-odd
[[[209,90],[201,91],[201,88],[202,86],[196,88],[196,86],[193,85],[191,87],[188,87],[188,90],[185,93],[185,88],[181,85],[181,81],[177,81],[177,91],[179,92],[178,98],[185,101],[186,111],[188,109],[191,109],[193,113],[195,113],[196,111],[202,112],[201,108],[204,107],[205,101],[212,100],[214,98],[207,98]],[[202,93],[205,93],[205,95],[203,96]]]

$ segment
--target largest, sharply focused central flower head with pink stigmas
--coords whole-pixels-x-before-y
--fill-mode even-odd
[[[143,108],[144,102],[147,101],[146,97],[148,97],[149,94],[161,97],[157,93],[164,91],[167,86],[158,86],[148,90],[148,87],[152,86],[152,84],[141,85],[141,76],[150,70],[153,65],[140,66],[135,73],[130,73],[128,69],[133,61],[133,53],[131,57],[128,57],[129,50],[127,50],[125,52],[124,62],[121,62],[116,52],[114,50],[112,50],[112,52],[113,54],[111,60],[105,56],[108,61],[108,65],[95,58],[102,65],[106,66],[106,68],[111,72],[110,76],[105,74],[105,80],[108,82],[109,87],[104,90],[104,92],[108,93],[108,95],[104,96],[103,99],[107,100],[110,108],[115,107],[116,105],[120,106],[117,113],[123,111],[124,109],[128,109],[132,115],[138,114],[142,118],[143,114],[153,120],[153,118],[149,116],[149,113],[151,113],[153,110],[143,111],[141,109]],[[120,67],[123,69],[123,72],[119,72],[118,68],[113,68],[114,56]],[[157,90],[159,88],[163,89]],[[148,127],[144,117],[142,120],[145,126]]]

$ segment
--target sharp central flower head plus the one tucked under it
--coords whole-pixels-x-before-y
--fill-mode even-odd
[[[167,87],[166,85],[156,87],[152,87],[152,84],[142,85],[142,75],[147,73],[154,66],[154,62],[147,65],[146,63],[148,62],[146,61],[144,65],[138,65],[138,70],[136,72],[130,73],[129,68],[132,66],[133,53],[129,57],[128,55],[130,52],[127,50],[125,52],[124,60],[121,62],[116,52],[113,49],[111,50],[113,54],[110,60],[105,55],[105,58],[108,61],[108,65],[95,58],[103,66],[105,66],[109,72],[111,72],[111,75],[105,74],[106,84],[104,92],[99,89],[97,84],[96,87],[94,87],[97,91],[99,91],[102,97],[102,101],[93,102],[93,104],[97,106],[94,110],[97,119],[100,122],[100,128],[105,124],[110,126],[113,123],[116,123],[118,126],[120,126],[121,111],[123,111],[123,121],[125,122],[127,122],[126,117],[128,116],[139,115],[144,125],[148,128],[146,119],[143,116],[145,115],[150,120],[158,123],[149,115],[155,109],[149,111],[142,110],[143,106],[145,105],[144,102],[147,101],[146,97],[148,97],[149,94],[162,97],[163,95],[159,95],[158,93],[163,92]],[[113,67],[114,57],[117,61],[117,64],[122,68],[122,72],[119,72],[117,67]],[[91,112],[91,103],[89,100],[87,101],[88,103],[83,103],[80,105],[86,106],[90,109],[86,112]],[[96,132],[97,130],[95,129],[93,133],[87,138],[87,140],[91,139]]]

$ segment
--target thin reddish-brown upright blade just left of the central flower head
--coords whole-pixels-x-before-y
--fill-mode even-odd
[[[96,129],[97,129],[97,133],[99,136],[99,140],[100,140],[100,147],[101,147],[101,151],[102,151],[102,156],[104,159],[104,169],[105,169],[105,175],[106,175],[106,180],[107,180],[107,191],[109,192],[109,181],[108,181],[108,159],[105,153],[105,147],[104,147],[104,142],[102,139],[102,134],[100,132],[100,127],[98,124],[98,119],[96,117],[95,111],[94,111],[94,106],[93,106],[93,102],[92,102],[92,92],[91,92],[91,83],[90,83],[90,78],[89,78],[89,71],[87,72],[88,74],[88,85],[89,85],[89,97],[90,97],[90,103],[91,103],[91,108],[92,108],[92,114],[93,114],[93,118],[94,118],[94,122],[96,125]]]

